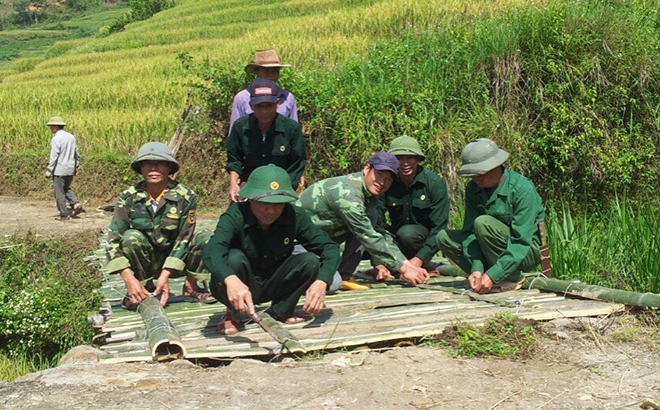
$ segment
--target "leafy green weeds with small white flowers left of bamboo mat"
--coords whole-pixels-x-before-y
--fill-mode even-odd
[[[101,277],[83,258],[97,247],[91,231],[56,239],[28,232],[0,244],[0,380],[91,343],[86,316],[100,305]]]

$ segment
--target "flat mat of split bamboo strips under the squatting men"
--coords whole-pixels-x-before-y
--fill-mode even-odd
[[[103,239],[102,239],[103,242]],[[89,258],[102,269],[101,251]],[[366,268],[363,261],[361,268]],[[464,288],[463,278],[432,278],[431,285]],[[183,278],[171,280],[173,296],[165,308],[181,341],[186,358],[231,359],[236,357],[264,357],[281,352],[280,345],[258,325],[249,323],[244,331],[221,336],[215,327],[225,313],[216,303],[204,305],[184,302],[181,297]],[[110,276],[100,291],[104,295],[98,321],[97,338],[105,354],[101,362],[118,363],[151,361],[141,316],[121,308],[125,294],[119,275]],[[298,304],[300,308],[304,298]],[[259,305],[264,309],[268,305]],[[536,289],[490,294],[486,300],[471,300],[468,295],[420,289],[392,284],[374,284],[367,291],[340,291],[326,298],[327,308],[315,317],[307,316],[304,323],[283,325],[305,346],[308,352],[356,346],[395,343],[396,341],[433,336],[457,320],[483,323],[500,312],[511,312],[521,318],[550,320],[560,317],[606,315],[623,308],[622,305],[600,301],[564,297]],[[304,312],[300,311],[304,315]]]

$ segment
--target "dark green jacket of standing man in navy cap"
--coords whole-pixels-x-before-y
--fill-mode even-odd
[[[227,139],[227,171],[236,172],[241,181],[247,181],[256,168],[275,164],[289,173],[291,185],[296,189],[306,161],[300,124],[281,114],[275,115],[265,136],[254,114],[241,117]]]

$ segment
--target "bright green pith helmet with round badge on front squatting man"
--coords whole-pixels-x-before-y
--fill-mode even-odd
[[[274,164],[252,171],[247,184],[238,193],[258,202],[283,203],[298,199],[296,191],[291,188],[289,174]]]

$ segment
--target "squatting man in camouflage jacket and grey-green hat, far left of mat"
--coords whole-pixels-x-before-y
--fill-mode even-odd
[[[107,271],[119,273],[126,284],[124,306],[136,308],[150,291],[160,295],[165,306],[169,278],[181,275],[187,275],[186,300],[215,302],[189,273],[203,271],[201,254],[210,233],[195,234],[197,199],[191,189],[170,178],[179,170],[172,150],[149,142],[140,148],[131,167],[144,180],[119,195],[107,246]]]

